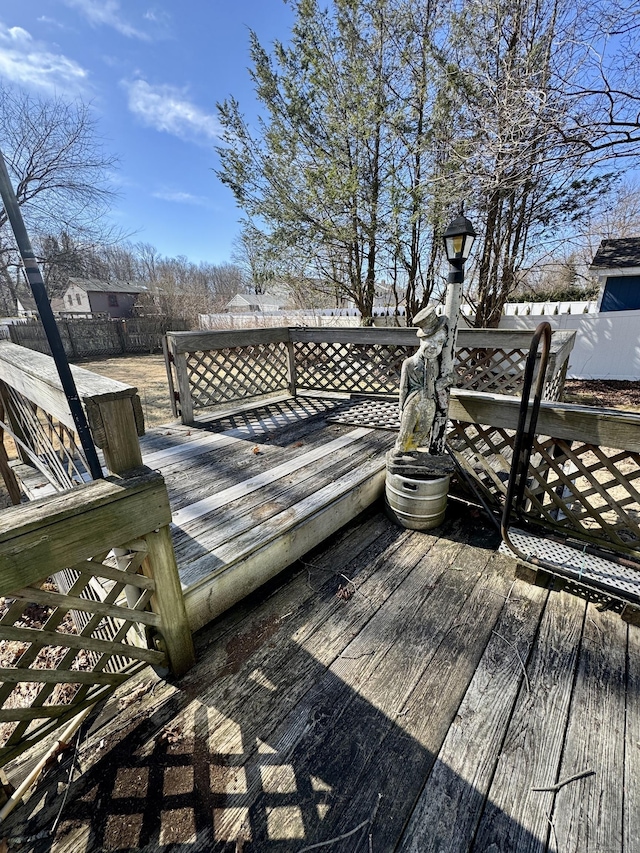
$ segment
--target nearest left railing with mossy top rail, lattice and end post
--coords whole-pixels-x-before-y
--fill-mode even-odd
[[[144,468],[0,514],[0,765],[147,664],[192,665],[170,519]]]

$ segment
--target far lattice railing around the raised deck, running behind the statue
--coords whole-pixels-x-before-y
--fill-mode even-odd
[[[458,335],[458,385],[515,393],[522,385],[532,333],[465,329]],[[555,332],[547,399],[562,394],[574,332]],[[273,328],[169,332],[167,372],[174,415],[194,422],[198,409],[275,394],[397,393],[415,329]]]

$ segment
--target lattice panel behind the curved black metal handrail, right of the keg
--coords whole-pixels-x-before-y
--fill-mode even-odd
[[[515,433],[454,422],[449,446],[493,505],[506,497]],[[537,436],[522,518],[640,554],[640,454]]]

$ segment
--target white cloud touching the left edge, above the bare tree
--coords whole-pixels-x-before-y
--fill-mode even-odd
[[[88,72],[73,59],[52,53],[22,27],[0,22],[0,77],[29,89],[78,92]]]

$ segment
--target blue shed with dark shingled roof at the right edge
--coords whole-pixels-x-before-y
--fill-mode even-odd
[[[603,240],[589,269],[600,282],[600,312],[640,309],[640,237]]]

